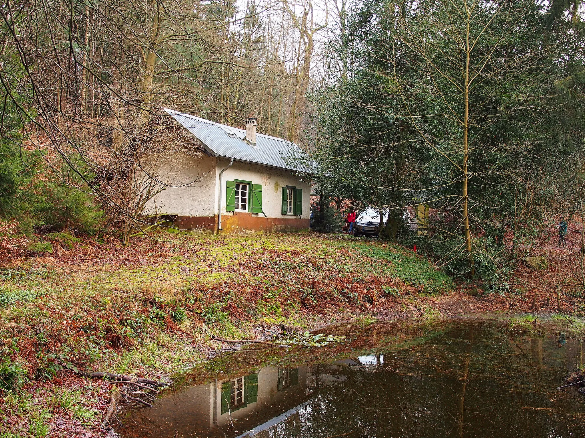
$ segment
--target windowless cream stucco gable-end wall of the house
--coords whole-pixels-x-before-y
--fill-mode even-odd
[[[161,166],[159,173],[166,187],[147,208],[158,214],[213,216],[216,211],[216,158],[180,156]]]

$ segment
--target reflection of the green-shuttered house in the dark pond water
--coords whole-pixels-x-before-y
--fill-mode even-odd
[[[297,421],[315,390],[346,380],[355,367],[381,362],[373,357],[325,366],[265,367],[196,385],[165,395],[151,409],[135,411],[125,435],[136,436],[132,430],[140,430],[140,438],[170,438],[179,430],[183,436],[262,437],[279,423]],[[149,426],[140,426],[142,422]]]

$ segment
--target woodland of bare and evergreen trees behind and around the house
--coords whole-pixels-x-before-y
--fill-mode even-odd
[[[128,244],[152,230],[157,168],[198,154],[161,117],[171,107],[254,115],[300,144],[318,165],[317,229],[346,201],[388,209],[381,238],[505,288],[563,215],[583,266],[579,0],[30,0],[0,14],[5,259],[50,251],[47,232]],[[402,211],[421,203],[428,232],[408,234]]]

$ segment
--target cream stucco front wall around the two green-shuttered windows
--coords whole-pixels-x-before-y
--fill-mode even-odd
[[[217,172],[225,168],[229,161],[224,158],[218,159]],[[233,162],[233,166],[223,172],[222,176],[222,200],[221,208],[222,215],[232,215],[232,212],[225,210],[225,182],[241,179],[245,181],[252,181],[253,184],[262,185],[262,210],[267,217],[273,218],[298,218],[298,216],[288,216],[282,214],[282,187],[294,186],[297,189],[302,189],[302,215],[301,219],[308,219],[311,217],[310,203],[311,203],[311,185],[308,178],[301,179],[297,175],[292,175],[291,171],[282,171],[280,169],[273,169],[257,164],[249,164],[242,162]],[[253,214],[264,217],[263,214]]]

